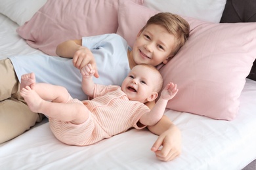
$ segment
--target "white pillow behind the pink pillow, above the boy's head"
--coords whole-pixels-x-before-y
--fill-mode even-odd
[[[196,18],[205,22],[219,23],[226,0],[144,0],[144,6]]]

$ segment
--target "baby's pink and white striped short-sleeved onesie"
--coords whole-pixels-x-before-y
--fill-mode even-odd
[[[140,116],[150,109],[139,101],[129,101],[119,86],[96,84],[93,98],[83,101],[92,112],[83,124],[49,118],[51,130],[58,140],[70,145],[85,146],[125,132],[130,127],[146,127],[138,126],[137,123]]]

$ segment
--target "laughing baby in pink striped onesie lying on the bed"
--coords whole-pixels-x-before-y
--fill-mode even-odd
[[[163,78],[152,65],[133,67],[120,86],[95,84],[91,64],[81,69],[82,88],[93,99],[72,99],[61,86],[35,83],[33,73],[22,75],[20,95],[33,112],[49,117],[50,127],[57,139],[66,144],[85,146],[127,131],[153,126],[163,116],[167,101],[178,92],[177,85],[167,84],[152,110],[146,103],[154,101]],[[53,101],[49,102],[49,101]],[[68,101],[68,103],[67,103]]]

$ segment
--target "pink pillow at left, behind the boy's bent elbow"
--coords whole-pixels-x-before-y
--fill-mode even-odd
[[[56,56],[56,46],[68,39],[116,33],[119,1],[48,0],[29,22],[16,31],[33,48]]]

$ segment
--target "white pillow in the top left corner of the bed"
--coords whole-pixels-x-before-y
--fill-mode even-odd
[[[30,20],[47,0],[0,0],[0,13],[18,25]]]

